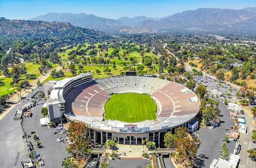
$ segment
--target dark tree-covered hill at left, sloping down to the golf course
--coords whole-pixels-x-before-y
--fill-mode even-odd
[[[0,41],[4,50],[0,52],[3,53],[11,47],[11,53],[29,56],[36,52],[44,55],[58,47],[110,38],[108,34],[75,27],[70,23],[0,18]]]

